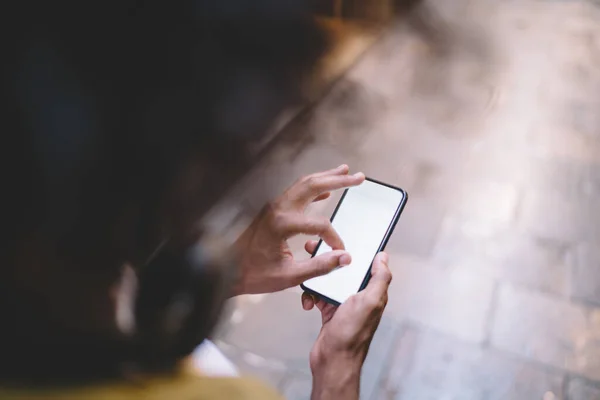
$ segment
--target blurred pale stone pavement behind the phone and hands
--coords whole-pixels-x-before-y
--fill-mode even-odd
[[[600,4],[311,1],[331,46],[309,100],[212,223],[341,163],[401,186],[361,398],[600,399]],[[320,328],[300,293],[234,299],[214,337],[290,399]]]

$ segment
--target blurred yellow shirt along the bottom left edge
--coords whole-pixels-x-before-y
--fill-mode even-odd
[[[209,378],[182,374],[139,382],[61,389],[3,389],[0,399],[15,400],[281,400],[271,388],[247,378]]]

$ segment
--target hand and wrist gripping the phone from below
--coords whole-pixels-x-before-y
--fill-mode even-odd
[[[306,250],[314,246],[309,242]],[[391,281],[388,255],[379,253],[367,287],[339,307],[302,294],[303,308],[310,310],[316,305],[323,323],[310,353],[313,400],[358,399],[360,371],[387,304]]]

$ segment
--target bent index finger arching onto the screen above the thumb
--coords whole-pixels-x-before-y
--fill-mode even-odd
[[[301,233],[318,235],[332,249],[344,249],[344,242],[331,226],[327,218],[309,217],[305,214],[289,213],[281,215],[276,222],[276,230],[289,238]]]

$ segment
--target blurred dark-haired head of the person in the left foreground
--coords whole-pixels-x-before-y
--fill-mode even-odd
[[[198,222],[323,37],[296,0],[17,3],[0,39],[0,377],[168,369],[235,275]]]

